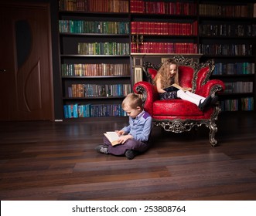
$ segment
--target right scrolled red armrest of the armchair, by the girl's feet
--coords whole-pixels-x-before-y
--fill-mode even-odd
[[[200,96],[214,96],[215,93],[221,92],[225,89],[224,82],[220,79],[210,79],[206,84],[196,89],[196,94]]]

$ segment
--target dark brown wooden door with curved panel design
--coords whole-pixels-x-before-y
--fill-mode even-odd
[[[49,6],[0,3],[0,120],[53,120]]]

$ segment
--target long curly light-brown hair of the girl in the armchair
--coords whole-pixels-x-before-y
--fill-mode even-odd
[[[176,65],[178,68],[178,63],[174,59],[167,59],[165,62],[162,63],[158,73],[156,74],[155,78],[153,79],[153,84],[156,85],[156,80],[161,79],[161,88],[164,89],[168,86],[171,86],[173,83],[179,85],[179,71],[173,76],[171,75],[170,65]]]

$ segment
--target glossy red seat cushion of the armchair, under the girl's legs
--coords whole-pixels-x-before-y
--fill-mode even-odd
[[[153,102],[154,116],[203,116],[198,107],[186,100],[155,100]]]

